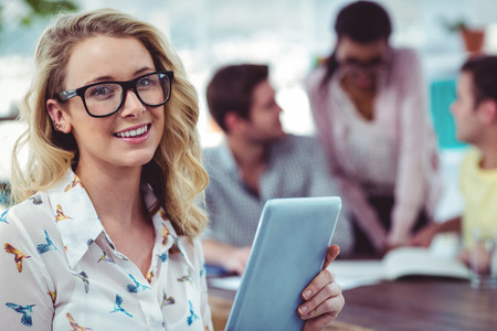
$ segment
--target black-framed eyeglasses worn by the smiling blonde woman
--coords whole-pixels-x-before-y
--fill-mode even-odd
[[[161,71],[127,82],[98,82],[76,89],[60,92],[55,95],[55,98],[60,103],[64,103],[80,96],[89,116],[106,117],[120,109],[126,100],[126,93],[130,88],[145,106],[159,107],[165,105],[171,96],[173,77],[173,72]]]

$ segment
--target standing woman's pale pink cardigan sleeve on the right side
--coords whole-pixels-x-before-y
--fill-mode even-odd
[[[402,86],[399,121],[399,167],[390,244],[405,243],[429,194],[423,162],[437,168],[436,143],[426,110],[425,84],[416,54],[404,50],[393,85]]]

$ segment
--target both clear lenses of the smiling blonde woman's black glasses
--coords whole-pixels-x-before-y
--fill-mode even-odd
[[[160,106],[169,98],[170,81],[163,73],[142,76],[136,81],[135,86],[138,98],[146,106]],[[121,106],[124,88],[115,83],[97,84],[85,90],[84,98],[91,114],[105,116]]]

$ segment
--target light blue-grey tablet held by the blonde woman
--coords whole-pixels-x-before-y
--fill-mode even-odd
[[[268,200],[225,330],[302,330],[304,288],[322,268],[338,196]]]

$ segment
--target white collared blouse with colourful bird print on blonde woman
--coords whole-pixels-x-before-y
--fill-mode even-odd
[[[148,189],[148,188],[147,188]],[[156,197],[148,189],[145,201]],[[213,330],[199,239],[160,211],[146,277],[107,236],[73,171],[0,215],[2,330]]]

